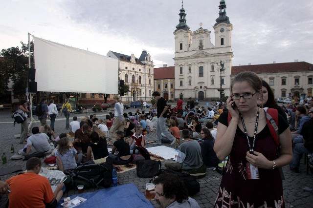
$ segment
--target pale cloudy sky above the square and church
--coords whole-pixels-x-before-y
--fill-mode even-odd
[[[233,65],[294,60],[313,63],[312,0],[227,0]],[[34,36],[106,55],[151,54],[173,65],[180,0],[1,0],[0,49]],[[212,31],[219,0],[184,0],[192,31]]]

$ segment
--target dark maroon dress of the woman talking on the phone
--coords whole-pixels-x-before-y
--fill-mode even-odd
[[[227,125],[227,112],[219,122]],[[278,118],[279,133],[288,124]],[[249,138],[252,144],[253,137]],[[216,208],[284,208],[282,179],[278,169],[259,169],[260,179],[247,179],[246,152],[248,144],[245,133],[237,127],[234,143],[224,168],[221,186],[216,199]],[[277,159],[277,148],[268,126],[256,135],[255,151],[261,152],[268,160]]]

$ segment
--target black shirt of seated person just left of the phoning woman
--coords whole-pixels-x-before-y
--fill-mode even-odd
[[[220,161],[213,150],[214,140],[206,139],[201,144],[201,154],[203,163],[208,167],[216,167]]]

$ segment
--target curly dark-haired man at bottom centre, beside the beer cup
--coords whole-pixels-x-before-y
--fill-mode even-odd
[[[196,200],[188,197],[187,188],[177,176],[161,174],[154,184],[155,200],[161,208],[200,208]]]

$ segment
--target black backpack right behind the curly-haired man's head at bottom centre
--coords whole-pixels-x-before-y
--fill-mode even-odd
[[[153,179],[150,180],[150,183],[153,182],[158,175],[161,174],[171,174],[171,175],[176,175],[177,178],[182,180],[187,188],[188,191],[188,196],[195,195],[200,191],[200,183],[197,181],[195,176],[189,175],[187,173],[181,173],[181,172],[176,172],[171,169],[160,169]]]

